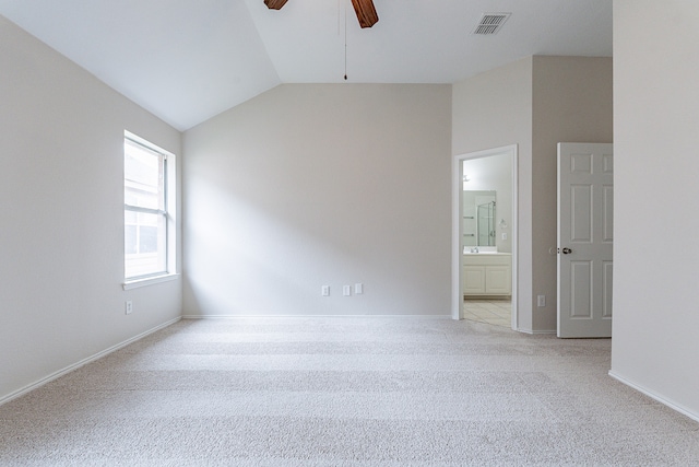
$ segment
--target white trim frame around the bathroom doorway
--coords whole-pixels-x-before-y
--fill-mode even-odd
[[[461,252],[461,237],[463,234],[463,222],[461,222],[463,212],[463,161],[471,159],[489,157],[493,155],[509,154],[512,166],[512,223],[511,223],[511,242],[512,242],[512,324],[513,330],[519,330],[518,324],[518,163],[519,151],[517,144],[503,145],[499,148],[486,149],[483,151],[469,152],[458,154],[452,157],[451,173],[451,317],[453,319],[463,319],[463,282],[461,275],[463,271],[463,254]]]

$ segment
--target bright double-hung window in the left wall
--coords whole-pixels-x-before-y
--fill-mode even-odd
[[[168,156],[171,154],[125,132],[123,250],[127,281],[168,275],[173,265],[168,214]]]

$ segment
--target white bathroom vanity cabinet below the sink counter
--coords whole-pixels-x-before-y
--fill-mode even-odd
[[[509,253],[463,255],[464,295],[511,295],[512,255]]]

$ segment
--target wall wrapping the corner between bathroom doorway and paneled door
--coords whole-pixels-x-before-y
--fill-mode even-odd
[[[555,331],[556,144],[612,141],[612,59],[530,57],[459,82],[453,95],[452,154],[518,144],[518,326]]]

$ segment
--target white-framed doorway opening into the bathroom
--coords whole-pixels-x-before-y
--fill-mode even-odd
[[[466,167],[464,170],[464,167]],[[518,174],[518,151],[517,144],[494,148],[454,156],[452,164],[452,317],[454,319],[464,318],[464,292],[466,288],[466,275],[469,275],[470,297],[486,299],[493,293],[497,296],[507,295],[511,297],[510,327],[518,329],[517,313],[517,174]],[[464,191],[465,189],[465,191]],[[490,192],[491,191],[491,192]],[[498,195],[499,191],[499,195]],[[484,201],[484,196],[493,196],[494,203],[486,208],[476,206]],[[465,212],[471,206],[470,197],[474,199],[473,219]],[[499,199],[499,202],[498,202]],[[466,206],[469,205],[469,206]],[[481,202],[484,205],[484,202]],[[499,205],[499,206],[498,206]],[[498,209],[499,208],[499,209]],[[487,222],[490,222],[486,235],[478,235],[478,211],[488,210]],[[464,219],[466,218],[466,219]],[[482,223],[485,221],[482,221]],[[472,232],[473,230],[473,232]],[[484,230],[481,225],[481,230]],[[487,245],[479,245],[478,237]],[[474,245],[471,245],[474,243]],[[497,253],[497,255],[493,255]],[[464,257],[467,259],[464,260]],[[496,259],[496,256],[498,257]],[[477,259],[476,259],[477,258]],[[477,261],[483,260],[485,266]],[[499,265],[500,261],[508,261],[507,269]],[[476,266],[471,265],[476,261]],[[469,265],[464,265],[469,262]],[[490,266],[489,264],[494,265]],[[503,270],[507,276],[503,277]],[[483,284],[477,283],[483,277]],[[474,288],[474,281],[476,281]],[[489,279],[488,279],[489,278]],[[488,282],[491,283],[488,288]],[[494,282],[497,281],[497,282]],[[508,288],[502,290],[502,284]],[[481,287],[479,290],[477,288]],[[482,295],[482,296],[479,296]],[[496,297],[497,297],[496,296]]]

